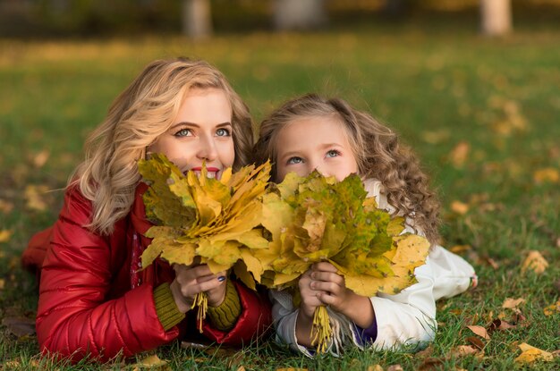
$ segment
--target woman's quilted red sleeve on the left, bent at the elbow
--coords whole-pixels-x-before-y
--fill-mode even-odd
[[[117,223],[111,236],[100,237],[82,226],[89,222],[90,211],[89,201],[79,192],[67,191],[41,272],[41,349],[74,360],[87,353],[105,360],[172,341],[179,331],[174,327],[165,333],[157,318],[153,285],[142,284],[109,299],[126,262],[126,223]]]

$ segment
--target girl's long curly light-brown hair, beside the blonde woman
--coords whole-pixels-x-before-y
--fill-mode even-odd
[[[287,124],[306,117],[339,119],[348,134],[360,175],[381,181],[395,213],[410,217],[431,243],[437,243],[439,203],[411,149],[399,143],[394,131],[371,115],[353,109],[343,99],[309,94],[284,103],[261,122],[253,161],[261,164],[270,158],[276,177],[278,133]]]

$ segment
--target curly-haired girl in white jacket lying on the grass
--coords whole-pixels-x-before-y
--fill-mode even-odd
[[[433,340],[436,300],[467,290],[476,276],[462,257],[437,245],[437,200],[395,133],[342,99],[307,95],[285,103],[261,123],[254,154],[257,163],[272,160],[274,181],[314,169],[338,181],[358,173],[378,207],[405,216],[406,232],[431,242],[426,264],[415,270],[418,282],[396,295],[357,295],[327,262],[301,276],[299,308],[287,291],[271,291],[277,340],[311,356],[310,329],[319,305],[328,306],[334,333],[329,350],[334,354],[345,345],[395,349]]]

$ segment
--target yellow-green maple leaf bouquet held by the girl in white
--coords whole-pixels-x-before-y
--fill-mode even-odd
[[[317,172],[289,173],[263,195],[261,223],[270,243],[252,251],[260,264],[253,271],[269,288],[295,289],[312,264],[327,261],[357,294],[395,294],[416,282],[414,269],[428,256],[428,240],[402,234],[403,218],[379,209],[357,175],[335,181]],[[311,330],[318,352],[331,336],[327,308],[318,307]]]

